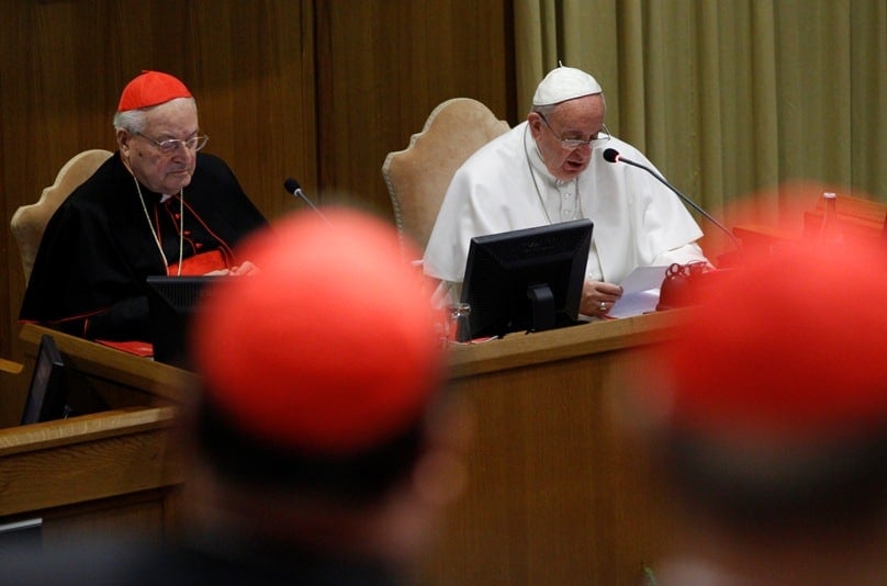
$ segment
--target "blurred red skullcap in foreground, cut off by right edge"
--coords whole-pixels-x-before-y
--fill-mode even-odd
[[[887,424],[887,255],[878,244],[779,250],[712,283],[659,356],[665,384],[648,405],[661,407],[660,422],[789,442]]]

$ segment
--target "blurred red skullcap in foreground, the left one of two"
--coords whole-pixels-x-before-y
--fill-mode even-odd
[[[442,375],[437,316],[397,234],[366,214],[295,214],[209,291],[194,327],[209,401],[279,449],[340,455],[403,432]]]

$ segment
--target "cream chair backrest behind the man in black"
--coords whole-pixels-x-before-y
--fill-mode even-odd
[[[53,217],[61,202],[80,183],[89,179],[111,155],[110,150],[99,148],[75,155],[58,171],[55,183],[43,190],[36,203],[15,210],[12,221],[10,221],[10,227],[22,256],[25,283],[31,279],[31,269],[34,268],[34,259],[37,256],[46,223]]]

